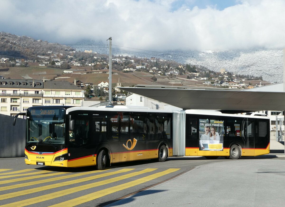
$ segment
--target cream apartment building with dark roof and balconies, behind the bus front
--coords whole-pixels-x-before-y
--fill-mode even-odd
[[[0,113],[15,116],[31,106],[81,106],[84,91],[68,81],[1,79],[0,98]]]

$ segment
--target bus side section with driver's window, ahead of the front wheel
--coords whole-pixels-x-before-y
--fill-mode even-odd
[[[90,120],[88,119],[88,115],[77,117],[74,119],[73,135],[68,139],[68,167],[91,165],[92,160],[94,160],[92,156],[94,153],[92,135],[91,131],[89,131]],[[70,136],[70,134],[68,134],[68,136]]]

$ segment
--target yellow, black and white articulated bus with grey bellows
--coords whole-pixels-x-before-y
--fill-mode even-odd
[[[261,113],[36,106],[19,115],[27,117],[26,164],[102,170],[172,156],[238,159],[269,153],[269,118]]]

